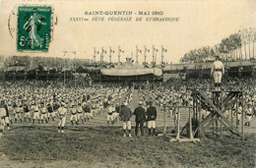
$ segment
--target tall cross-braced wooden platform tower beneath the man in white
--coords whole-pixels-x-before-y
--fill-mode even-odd
[[[207,128],[213,126],[213,134],[223,137],[224,130],[237,135],[244,140],[244,100],[240,90],[213,90],[212,95],[205,91],[193,91],[193,118],[198,121],[194,135],[204,138]],[[202,109],[207,109],[210,114],[202,119]],[[234,118],[235,117],[235,118]],[[220,123],[220,131],[219,131]],[[224,128],[225,126],[225,128]],[[239,128],[241,126],[241,128]],[[219,135],[220,132],[220,135]]]

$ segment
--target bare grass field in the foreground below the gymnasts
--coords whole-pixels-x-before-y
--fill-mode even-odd
[[[0,167],[255,167],[255,145],[255,134],[179,143],[123,138],[120,127],[17,126],[1,139]]]

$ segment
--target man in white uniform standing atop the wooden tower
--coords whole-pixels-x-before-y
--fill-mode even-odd
[[[221,90],[222,78],[224,76],[224,63],[220,61],[220,56],[216,57],[216,61],[212,65],[211,75],[214,78],[215,88]]]

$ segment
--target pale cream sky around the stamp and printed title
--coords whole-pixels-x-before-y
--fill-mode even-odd
[[[2,0],[0,6],[0,55],[31,55],[63,57],[63,51],[77,51],[77,57],[93,59],[94,47],[100,51],[101,47],[109,50],[111,46],[112,60],[117,61],[117,46],[120,45],[124,53],[121,60],[135,57],[135,46],[143,50],[146,45],[151,52],[147,61],[152,61],[152,45],[160,50],[163,45],[167,49],[164,53],[165,62],[177,63],[189,50],[202,46],[213,46],[220,43],[224,37],[238,32],[243,28],[256,28],[256,1],[61,1],[45,0],[43,4],[53,5],[54,17],[58,24],[53,28],[53,41],[47,53],[24,53],[17,51],[17,32],[9,33],[10,28],[17,28],[17,17],[10,15],[17,12],[17,5],[28,2],[16,0]],[[30,4],[42,4],[30,2]],[[14,10],[13,10],[14,9]],[[85,11],[162,11],[162,16],[143,16],[143,20],[152,17],[179,18],[179,22],[70,22],[70,17],[84,17],[92,20],[94,16],[85,16]],[[11,16],[11,17],[10,17]],[[104,16],[107,20],[108,16]],[[115,16],[127,17],[127,16]],[[128,16],[129,17],[129,16]],[[133,15],[133,20],[138,15]],[[74,57],[73,54],[67,54]],[[157,53],[160,62],[160,52]],[[108,60],[108,53],[104,60]],[[96,55],[99,60],[99,55]],[[139,54],[139,61],[144,60],[143,53]]]

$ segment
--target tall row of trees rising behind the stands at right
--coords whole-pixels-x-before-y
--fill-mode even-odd
[[[224,61],[255,59],[256,28],[239,30],[213,47],[204,46],[186,53],[180,62],[204,62],[218,55]]]

